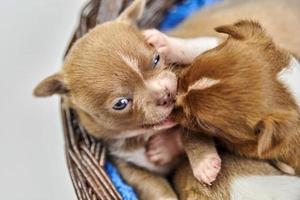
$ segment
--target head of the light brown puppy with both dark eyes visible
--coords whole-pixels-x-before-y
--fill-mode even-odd
[[[42,81],[34,94],[66,97],[98,137],[170,126],[177,80],[135,25],[144,6],[145,0],[134,1],[118,19],[79,39],[62,70]]]

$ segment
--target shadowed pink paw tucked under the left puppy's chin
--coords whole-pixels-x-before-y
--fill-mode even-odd
[[[166,165],[183,153],[180,130],[169,130],[152,136],[147,144],[146,156],[157,165]]]

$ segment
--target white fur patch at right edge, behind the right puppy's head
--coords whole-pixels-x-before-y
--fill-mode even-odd
[[[300,106],[300,64],[291,57],[290,64],[277,74],[278,80],[286,86]]]

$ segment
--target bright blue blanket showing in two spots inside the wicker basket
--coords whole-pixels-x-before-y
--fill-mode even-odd
[[[160,24],[160,29],[163,31],[170,30],[195,11],[218,1],[221,0],[185,0],[167,12],[165,19]],[[138,199],[133,188],[122,180],[115,166],[110,162],[106,162],[105,170],[124,200]]]

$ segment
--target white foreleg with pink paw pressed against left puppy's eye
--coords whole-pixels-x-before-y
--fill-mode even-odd
[[[144,31],[146,41],[165,57],[167,63],[190,64],[203,52],[216,47],[220,41],[216,37],[179,39],[150,29]]]

